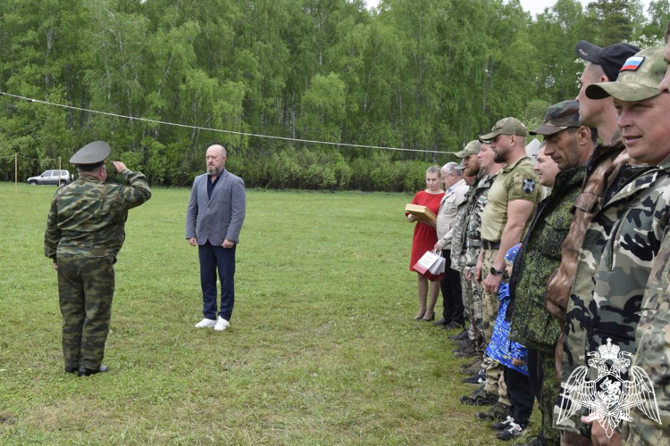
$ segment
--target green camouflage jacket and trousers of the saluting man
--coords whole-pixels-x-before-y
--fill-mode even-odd
[[[82,175],[56,192],[46,224],[45,255],[58,264],[66,369],[98,369],[114,293],[113,263],[128,210],[151,197],[147,178],[124,169],[130,186]]]

